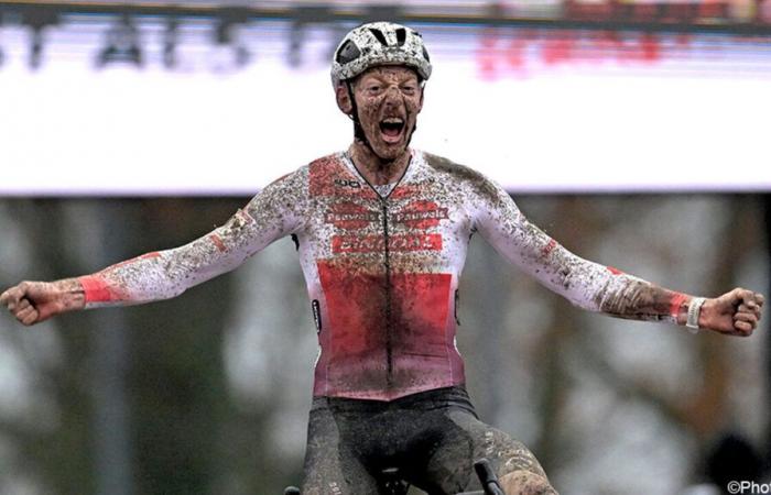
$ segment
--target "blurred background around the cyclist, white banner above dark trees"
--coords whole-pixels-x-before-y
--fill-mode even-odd
[[[188,242],[347,146],[330,55],[382,19],[435,65],[416,147],[584,257],[771,292],[771,0],[0,1],[0,287]],[[561,493],[771,480],[767,321],[729,339],[582,312],[471,244],[469,392]],[[0,315],[0,493],[298,484],[313,329],[289,239],[171,301]]]

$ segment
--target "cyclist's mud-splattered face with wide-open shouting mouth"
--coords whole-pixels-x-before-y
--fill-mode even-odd
[[[404,153],[423,108],[423,88],[414,70],[408,67],[373,67],[352,85],[359,120],[374,153],[395,160]],[[346,113],[352,111],[347,88],[337,91],[337,102]]]

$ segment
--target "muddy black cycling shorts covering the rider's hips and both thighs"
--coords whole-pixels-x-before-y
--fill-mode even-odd
[[[306,495],[378,494],[386,469],[428,494],[480,490],[474,461],[498,476],[546,475],[522,443],[479,421],[461,386],[392,402],[315,397],[305,454]]]

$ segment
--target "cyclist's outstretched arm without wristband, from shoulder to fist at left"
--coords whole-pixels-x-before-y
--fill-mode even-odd
[[[175,297],[236,268],[300,228],[303,170],[265,187],[226,224],[189,244],[148,253],[78,278],[22,282],[0,295],[0,305],[29,326],[66,311]]]

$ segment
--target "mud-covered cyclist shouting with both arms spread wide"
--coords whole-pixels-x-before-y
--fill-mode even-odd
[[[280,178],[189,244],[78,278],[22,282],[0,304],[33,324],[165,299],[292,235],[321,346],[303,493],[378,493],[391,466],[428,493],[455,493],[475,488],[481,457],[508,494],[556,493],[522,443],[479,421],[464,388],[455,305],[474,233],[574,305],[619,318],[750,336],[763,296],[693,297],[583,260],[482,175],[411,148],[431,70],[412,29],[354,29],[332,67],[337,105],[354,122],[347,151]]]

